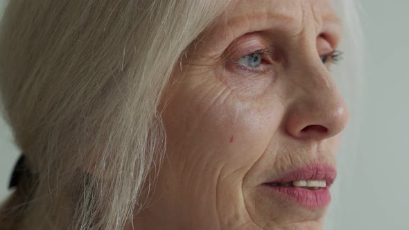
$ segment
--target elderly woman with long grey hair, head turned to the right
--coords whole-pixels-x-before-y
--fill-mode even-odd
[[[1,229],[321,229],[349,110],[329,0],[12,0]]]

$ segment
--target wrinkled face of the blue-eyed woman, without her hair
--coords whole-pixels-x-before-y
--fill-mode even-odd
[[[182,58],[145,229],[320,229],[348,109],[327,0],[234,1]],[[331,57],[333,56],[333,58]]]

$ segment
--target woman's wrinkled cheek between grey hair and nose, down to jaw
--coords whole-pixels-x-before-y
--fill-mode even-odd
[[[275,94],[245,96],[243,87],[211,75],[179,82],[162,115],[166,158],[155,210],[179,213],[169,221],[243,220],[243,180],[270,145],[284,108]]]

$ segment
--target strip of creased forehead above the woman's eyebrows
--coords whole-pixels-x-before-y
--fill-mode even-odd
[[[295,33],[306,26],[313,26],[316,33],[327,24],[341,27],[329,0],[233,0],[225,17],[229,26],[256,28],[257,23],[267,21],[266,26]]]

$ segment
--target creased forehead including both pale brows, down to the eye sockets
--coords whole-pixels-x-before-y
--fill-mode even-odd
[[[285,37],[322,35],[334,48],[342,37],[340,19],[329,0],[231,0],[220,20],[198,39],[203,44],[194,47],[205,46],[217,55],[237,37],[257,31],[279,31]]]

